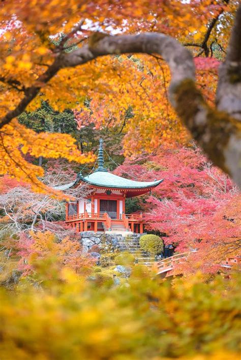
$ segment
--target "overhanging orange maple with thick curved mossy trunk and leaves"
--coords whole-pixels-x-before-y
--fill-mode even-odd
[[[187,133],[174,108],[210,159],[238,183],[240,8],[227,49],[237,6],[234,0],[2,2],[0,172],[46,189],[38,180],[43,170],[29,165],[22,154],[93,160],[91,154],[80,154],[70,136],[36,134],[17,121],[25,109],[49,101],[58,111],[91,109],[88,115],[97,126],[125,121],[131,107],[127,154],[140,151],[141,142],[145,149],[157,148],[160,138],[185,143]],[[205,99],[195,84],[188,48],[197,57],[198,85]],[[215,110],[217,81],[210,79],[217,79],[218,61],[223,62]],[[166,98],[168,86],[173,108]],[[87,108],[86,96],[92,103]]]

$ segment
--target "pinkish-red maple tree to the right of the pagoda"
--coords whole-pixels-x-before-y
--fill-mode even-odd
[[[216,272],[227,256],[240,254],[240,193],[200,149],[163,148],[156,155],[126,159],[114,173],[139,181],[164,178],[138,206],[145,230],[161,234],[177,252],[198,250],[185,274]]]

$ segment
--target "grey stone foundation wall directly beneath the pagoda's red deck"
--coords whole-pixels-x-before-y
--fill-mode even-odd
[[[81,242],[83,245],[83,252],[88,252],[89,249],[92,248],[93,245],[98,245],[102,249],[111,250],[111,248],[119,249],[120,244],[124,243],[127,240],[127,237],[123,237],[118,234],[104,234],[104,233],[94,233],[90,231],[85,231],[80,233]],[[130,235],[130,238],[133,240],[139,241],[140,236],[144,234],[133,234]]]

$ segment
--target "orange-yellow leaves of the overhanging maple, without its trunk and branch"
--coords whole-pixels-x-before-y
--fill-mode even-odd
[[[59,34],[69,34],[72,44],[77,41],[78,46],[82,46],[85,35],[92,33],[92,22],[107,34],[112,29],[129,34],[149,30],[167,33],[182,43],[192,43],[193,40],[201,43],[210,14],[215,17],[225,8],[225,16],[219,19],[222,26],[217,27],[223,30],[219,44],[225,48],[236,6],[233,1],[224,7],[210,0],[163,2],[162,6],[159,2],[146,0],[82,3],[78,0],[5,1],[0,8],[3,28],[0,35],[3,40],[0,43],[0,117],[18,108],[29,89],[37,86],[41,87],[41,93],[27,104],[28,111],[36,109],[41,100],[48,100],[54,109],[60,111],[65,108],[82,109],[87,96],[92,99],[91,119],[97,128],[112,126],[113,123],[122,127],[124,115],[131,107],[133,117],[128,119],[124,130],[125,155],[143,150],[152,152],[161,143],[169,147],[174,142],[186,144],[189,135],[168,103],[170,73],[162,60],[147,55],[131,58],[108,56],[81,67],[63,69],[47,84],[43,79],[38,81],[38,78],[53,64],[60,51],[53,40],[58,40]],[[80,31],[71,36],[80,19],[88,19],[83,33]],[[228,21],[225,22],[225,19]],[[214,29],[209,43],[215,40],[216,35]],[[216,86],[214,74],[211,79],[206,74],[199,75],[198,82],[212,103]],[[20,148],[24,153],[30,151],[33,156],[62,156],[80,163],[93,160],[89,154],[78,154],[70,137],[36,135],[20,127],[16,120],[2,129],[0,147],[0,174],[9,173],[17,179],[31,182],[34,189],[42,191],[46,188],[37,178],[42,176],[42,170],[29,165],[21,156]]]

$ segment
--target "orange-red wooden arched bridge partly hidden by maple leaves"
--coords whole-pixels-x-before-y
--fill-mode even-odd
[[[192,250],[189,252],[183,252],[180,254],[176,254],[166,259],[162,259],[157,263],[157,275],[160,277],[165,278],[168,276],[172,276],[172,270],[177,264],[184,264],[187,260],[188,256],[197,250]],[[221,263],[222,268],[231,269],[234,265],[241,263],[241,256],[230,256],[227,257]],[[180,274],[181,275],[181,274]]]

